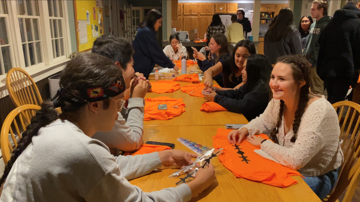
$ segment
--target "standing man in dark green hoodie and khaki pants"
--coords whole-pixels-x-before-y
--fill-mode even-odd
[[[308,35],[305,48],[302,51],[302,55],[308,61],[310,66],[310,89],[314,94],[323,95],[324,86],[323,81],[316,73],[317,55],[319,51],[318,38],[321,31],[326,27],[331,17],[327,15],[327,1],[326,0],[314,0],[311,6],[311,16],[315,18],[315,23],[310,26],[310,33]],[[331,47],[332,48],[332,47]]]

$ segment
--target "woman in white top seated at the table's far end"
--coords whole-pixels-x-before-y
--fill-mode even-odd
[[[166,45],[163,52],[170,60],[181,60],[182,56],[187,57],[186,47],[182,46],[177,34],[171,34],[169,41],[171,45]]]

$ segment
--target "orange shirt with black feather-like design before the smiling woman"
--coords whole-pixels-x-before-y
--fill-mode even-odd
[[[217,129],[217,133],[213,139],[213,147],[215,149],[223,148],[223,154],[218,158],[222,165],[230,170],[236,178],[244,178],[256,181],[274,187],[286,188],[297,183],[290,176],[301,176],[297,171],[284,167],[278,163],[262,158],[257,155],[254,150],[259,148],[252,146],[247,141],[243,141],[238,146],[240,150],[235,149],[232,144],[227,141],[227,134],[231,130]],[[268,139],[264,134],[260,134],[263,139]],[[237,152],[243,152],[243,157]]]

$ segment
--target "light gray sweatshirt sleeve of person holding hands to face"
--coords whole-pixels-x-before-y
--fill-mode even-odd
[[[92,138],[103,142],[109,148],[116,148],[124,152],[138,149],[142,143],[144,99],[130,98],[127,105],[127,120],[122,113],[109,132],[96,132]],[[122,112],[122,111],[121,111]]]

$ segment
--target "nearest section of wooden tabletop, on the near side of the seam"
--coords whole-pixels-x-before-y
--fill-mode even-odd
[[[212,136],[215,136],[219,126],[156,126],[144,128],[144,142],[157,141],[174,143],[175,149],[191,152],[178,142],[177,138],[186,138],[199,144],[212,147]],[[191,202],[320,202],[299,176],[293,176],[298,184],[288,188],[276,188],[269,185],[235,178],[218,161],[211,160],[215,168],[216,180],[203,193],[193,198]],[[176,187],[177,177],[169,178],[177,169],[164,169],[150,175],[131,180],[130,183],[145,192],[158,191],[164,188]]]

